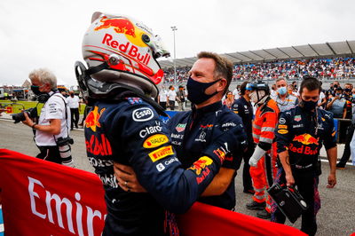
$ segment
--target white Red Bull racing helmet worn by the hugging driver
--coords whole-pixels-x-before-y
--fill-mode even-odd
[[[102,83],[120,83],[156,97],[163,71],[156,59],[169,57],[150,28],[123,15],[94,12],[83,36],[86,75]]]

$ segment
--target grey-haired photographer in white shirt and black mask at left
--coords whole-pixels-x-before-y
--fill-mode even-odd
[[[35,93],[43,108],[38,123],[29,118],[22,121],[34,130],[36,146],[41,153],[37,158],[73,166],[71,149],[73,139],[69,138],[70,110],[65,98],[57,90],[57,78],[47,69],[36,69],[28,75],[31,90]],[[30,115],[32,117],[32,115]],[[32,117],[33,118],[33,117]]]

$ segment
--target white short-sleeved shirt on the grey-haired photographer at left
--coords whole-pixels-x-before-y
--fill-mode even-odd
[[[51,91],[51,96],[43,105],[41,114],[39,116],[38,124],[50,125],[51,119],[60,120],[60,133],[59,135],[52,135],[48,132],[36,130],[35,141],[37,146],[57,146],[56,140],[58,138],[67,138],[70,127],[70,109],[65,104],[65,98],[59,92]],[[66,114],[67,107],[67,114]]]

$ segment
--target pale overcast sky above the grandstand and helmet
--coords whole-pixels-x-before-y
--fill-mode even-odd
[[[92,12],[130,15],[153,28],[177,58],[355,40],[355,1],[334,0],[1,0],[0,85],[22,84],[37,67],[76,84]]]

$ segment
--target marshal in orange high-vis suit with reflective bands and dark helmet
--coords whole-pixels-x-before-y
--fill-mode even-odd
[[[273,177],[276,176],[276,143],[273,143],[274,130],[278,123],[279,107],[270,98],[270,89],[266,83],[258,81],[249,83],[253,90],[250,93],[251,101],[257,106],[253,122],[253,139],[256,149],[250,157],[250,176],[253,181],[253,201],[247,204],[248,209],[260,209],[257,217],[271,217],[271,198],[266,189],[272,186]]]

